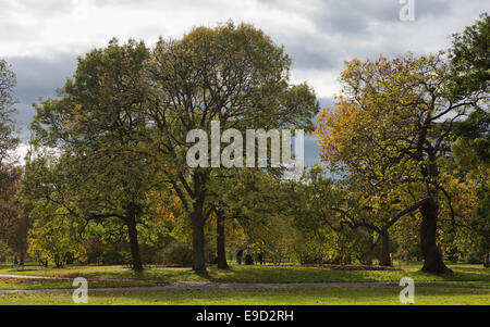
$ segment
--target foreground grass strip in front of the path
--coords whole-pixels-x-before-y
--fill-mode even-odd
[[[287,305],[287,304],[401,304],[400,288],[282,288],[282,289],[216,289],[150,292],[89,293],[91,305]],[[469,289],[416,288],[415,304],[466,305],[489,304],[490,292]],[[70,293],[0,294],[0,304],[74,304]],[[83,304],[76,304],[83,305]]]

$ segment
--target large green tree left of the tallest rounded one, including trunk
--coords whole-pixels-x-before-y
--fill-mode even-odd
[[[127,228],[135,269],[143,268],[136,226],[148,219],[147,193],[156,185],[155,166],[148,164],[144,144],[147,121],[142,111],[149,101],[143,72],[148,55],[143,42],[120,46],[113,39],[107,48],[78,58],[73,79],[58,99],[35,105],[32,124],[33,143],[57,149],[53,165],[64,177],[63,188],[49,201],[73,218]],[[37,196],[42,198],[42,192]]]

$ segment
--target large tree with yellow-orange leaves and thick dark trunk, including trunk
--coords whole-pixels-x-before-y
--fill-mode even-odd
[[[450,271],[436,243],[443,192],[439,161],[448,151],[453,122],[481,101],[481,95],[452,97],[442,53],[354,59],[345,65],[340,78],[342,92],[319,118],[322,159],[365,183],[385,179],[391,186],[422,187],[425,194],[416,202],[422,216],[422,271]]]

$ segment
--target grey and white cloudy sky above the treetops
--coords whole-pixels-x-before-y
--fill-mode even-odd
[[[414,3],[414,21],[400,10]],[[29,136],[30,103],[50,97],[76,58],[112,38],[179,38],[193,26],[253,23],[293,60],[293,83],[307,80],[322,106],[338,91],[343,61],[446,49],[449,36],[488,12],[488,0],[0,0],[0,58],[17,75],[16,120]],[[317,147],[306,143],[307,163]]]

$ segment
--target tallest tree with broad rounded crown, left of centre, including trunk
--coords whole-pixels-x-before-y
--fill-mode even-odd
[[[318,112],[313,90],[289,81],[290,58],[282,47],[252,25],[233,23],[216,28],[197,27],[179,40],[160,39],[154,49],[149,78],[156,89],[149,109],[158,129],[160,165],[172,183],[193,226],[193,268],[205,267],[207,203],[213,167],[189,168],[186,135],[209,131],[219,121],[221,130],[236,128],[311,128]]]

